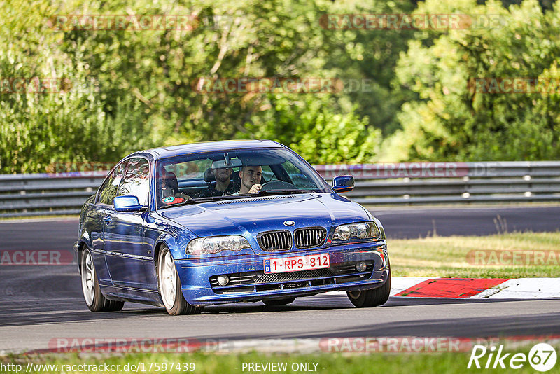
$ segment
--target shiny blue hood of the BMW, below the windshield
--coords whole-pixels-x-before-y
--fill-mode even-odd
[[[276,195],[220,202],[204,202],[162,209],[162,216],[188,228],[200,237],[244,235],[258,248],[255,237],[269,230],[290,230],[369,221],[363,207],[335,193]],[[294,221],[293,226],[284,221]],[[252,239],[252,240],[251,240]]]

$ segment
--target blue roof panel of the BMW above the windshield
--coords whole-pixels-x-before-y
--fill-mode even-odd
[[[225,151],[231,149],[250,149],[250,148],[287,148],[283,144],[272,140],[223,140],[223,141],[202,141],[200,143],[181,144],[178,146],[165,146],[148,149],[132,153],[151,153],[154,158],[168,158],[187,153],[202,153],[211,151]]]

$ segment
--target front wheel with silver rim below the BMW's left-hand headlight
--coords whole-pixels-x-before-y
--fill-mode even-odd
[[[204,307],[187,303],[181,292],[181,280],[169,248],[163,247],[158,256],[158,289],[163,305],[172,316],[180,314],[200,314]]]

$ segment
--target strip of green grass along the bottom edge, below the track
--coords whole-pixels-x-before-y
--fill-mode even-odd
[[[516,350],[517,351],[517,350]],[[507,352],[514,352],[507,350]],[[517,352],[528,353],[528,349]],[[195,363],[194,373],[258,373],[257,371],[242,370],[243,363],[287,363],[286,371],[279,373],[304,373],[304,371],[293,371],[290,369],[293,363],[317,363],[316,373],[465,373],[467,369],[470,352],[447,352],[447,353],[393,353],[393,354],[127,354],[106,356],[78,356],[78,354],[57,354],[46,356],[9,356],[0,358],[0,362],[20,363],[24,366],[28,361],[33,363],[49,363],[51,365],[73,365],[85,363],[88,365],[120,365],[120,370],[91,371],[92,373],[128,373],[123,370],[126,364],[138,365],[144,363],[144,373],[193,373],[192,371],[179,370],[152,370],[150,363]],[[483,362],[483,361],[481,361]],[[484,361],[485,362],[485,361]],[[507,364],[507,363],[506,363]],[[311,365],[311,367],[313,367]],[[60,368],[60,367],[59,367]],[[324,369],[323,369],[324,368]],[[471,370],[480,371],[476,368]],[[484,369],[481,369],[484,370]],[[534,373],[528,363],[515,373]],[[130,372],[130,371],[129,371]],[[272,371],[267,371],[271,373]],[[512,369],[491,369],[492,373],[511,373]],[[55,373],[55,371],[34,371],[33,373]],[[60,373],[58,371],[57,373]],[[66,371],[66,373],[84,373],[84,371]],[[139,373],[143,373],[140,369]],[[262,372],[261,372],[262,373]]]

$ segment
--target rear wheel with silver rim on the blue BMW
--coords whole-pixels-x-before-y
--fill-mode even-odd
[[[117,312],[125,306],[124,301],[109,300],[99,288],[99,280],[89,248],[85,247],[80,261],[82,292],[85,304],[92,312]]]

